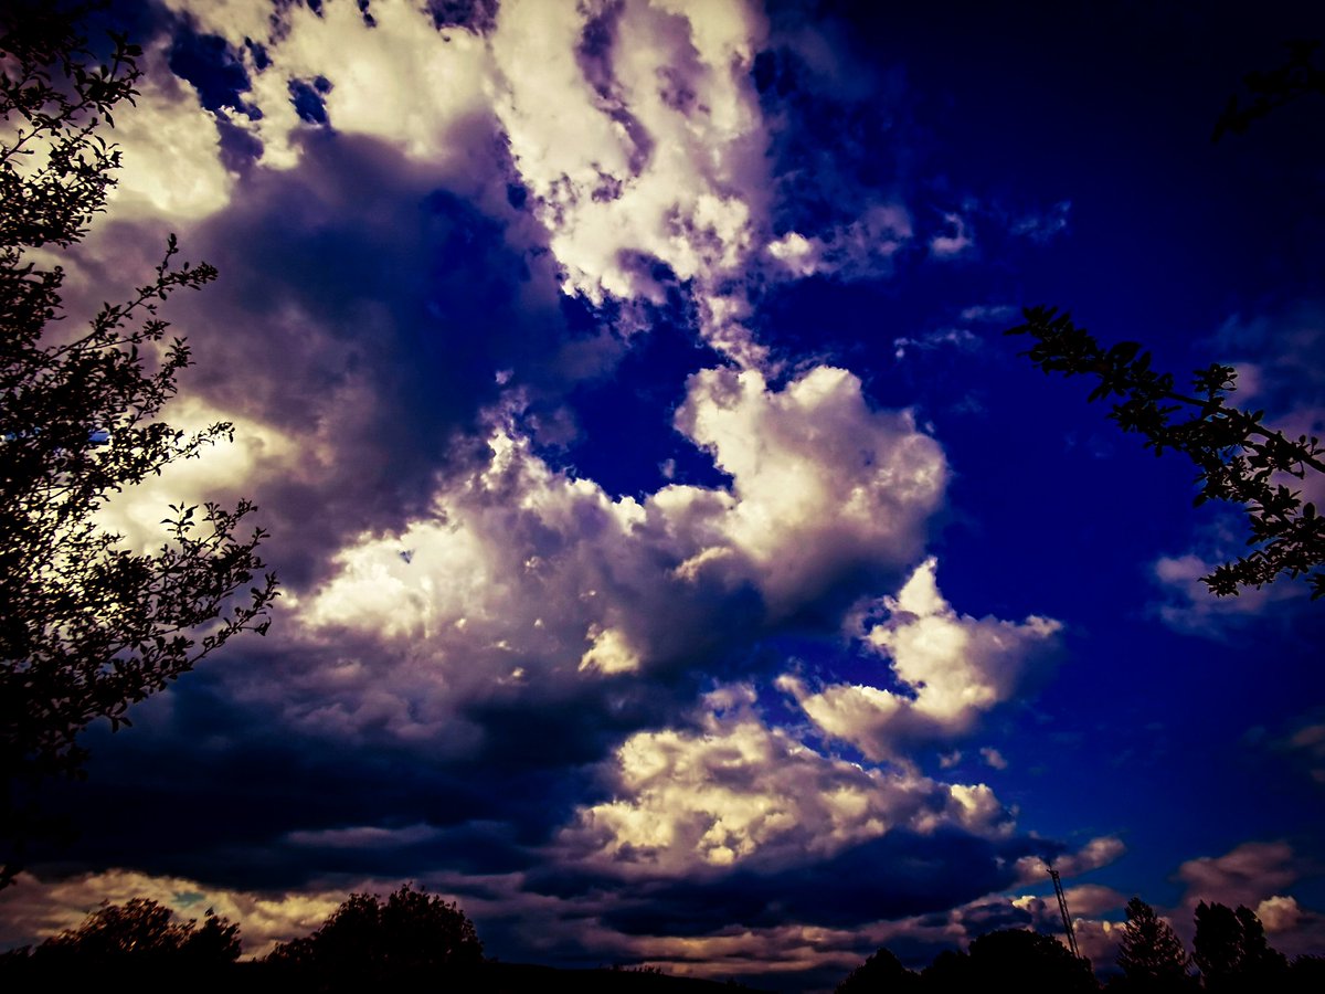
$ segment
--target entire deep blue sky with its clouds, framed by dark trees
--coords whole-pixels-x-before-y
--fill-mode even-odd
[[[1318,98],[1211,142],[1312,4],[122,0],[72,319],[167,235],[172,424],[282,595],[132,728],[0,945],[146,896],[246,954],[351,891],[489,956],[831,989],[1140,895],[1325,953],[1322,614],[1007,338],[1053,305],[1325,428]],[[1321,494],[1320,480],[1306,481]],[[1048,900],[1047,900],[1048,899]]]

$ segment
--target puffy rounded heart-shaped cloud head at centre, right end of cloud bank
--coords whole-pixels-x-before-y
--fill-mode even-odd
[[[734,477],[723,531],[775,611],[844,562],[918,553],[946,482],[938,443],[906,412],[871,411],[845,370],[816,367],[780,392],[754,370],[706,370],[677,427]]]

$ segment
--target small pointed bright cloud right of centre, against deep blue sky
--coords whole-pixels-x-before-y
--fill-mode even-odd
[[[815,725],[871,759],[897,758],[912,742],[969,733],[1056,645],[1061,624],[1047,618],[1014,623],[958,615],[938,590],[937,569],[935,559],[926,559],[896,598],[881,602],[888,619],[861,632],[890,659],[896,690],[832,684],[812,692],[791,675],[778,681]]]

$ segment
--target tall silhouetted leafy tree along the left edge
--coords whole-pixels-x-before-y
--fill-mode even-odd
[[[86,329],[62,323],[64,270],[49,260],[103,209],[119,151],[99,131],[132,103],[142,53],[113,36],[101,62],[69,17],[15,7],[0,15],[0,887],[52,832],[41,787],[80,771],[77,736],[97,718],[127,725],[130,704],[235,634],[265,632],[277,595],[256,551],[265,533],[240,534],[248,501],[171,508],[155,555],[98,522],[111,494],[232,436],[159,416],[191,359],[158,306],[216,270],[178,264],[170,236],[125,302]]]

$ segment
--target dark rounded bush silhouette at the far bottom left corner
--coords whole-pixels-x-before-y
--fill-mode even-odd
[[[144,897],[134,897],[127,904],[102,903],[77,929],[66,929],[37,946],[36,956],[94,962],[126,957],[171,960],[197,966],[231,964],[238,958],[238,925],[211,909],[203,926],[196,925],[196,918],[175,921],[170,908]]]

